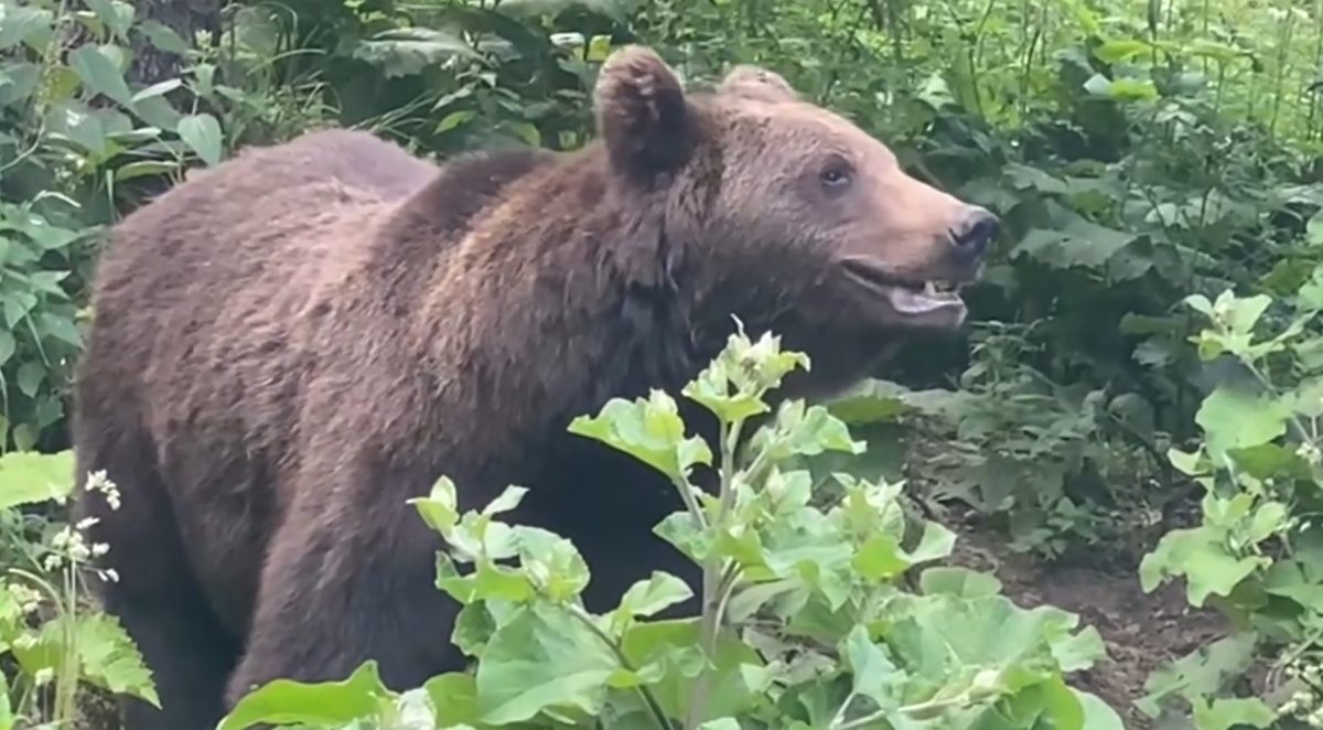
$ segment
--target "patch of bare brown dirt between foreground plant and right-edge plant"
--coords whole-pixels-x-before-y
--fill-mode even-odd
[[[1181,585],[1146,594],[1138,566],[1044,566],[1032,555],[1011,551],[990,530],[968,522],[947,526],[959,536],[953,562],[995,574],[1003,594],[1023,607],[1056,606],[1098,629],[1107,659],[1069,680],[1106,700],[1127,729],[1155,727],[1134,705],[1146,694],[1144,681],[1155,668],[1224,633],[1220,616],[1185,603]]]

